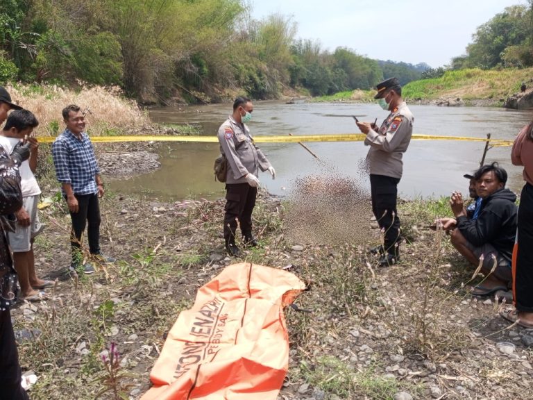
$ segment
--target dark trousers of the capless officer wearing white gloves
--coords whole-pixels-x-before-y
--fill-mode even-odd
[[[248,183],[232,183],[226,185],[226,213],[224,213],[224,240],[235,243],[237,219],[241,225],[242,235],[252,235],[252,212],[255,207],[257,188]]]

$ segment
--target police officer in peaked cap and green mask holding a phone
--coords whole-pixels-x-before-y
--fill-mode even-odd
[[[403,153],[409,147],[413,133],[414,117],[402,99],[402,87],[397,78],[389,78],[377,85],[374,99],[389,116],[378,128],[368,122],[356,122],[366,135],[364,144],[370,146],[366,160],[370,168],[372,211],[384,231],[383,246],[371,249],[380,253],[382,267],[398,261],[400,243],[400,219],[396,210],[398,183],[403,172]]]

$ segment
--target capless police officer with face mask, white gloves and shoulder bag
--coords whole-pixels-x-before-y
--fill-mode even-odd
[[[245,245],[255,247],[257,240],[252,234],[252,211],[260,181],[259,169],[268,171],[276,178],[276,171],[267,157],[255,146],[246,122],[252,119],[253,104],[246,97],[237,97],[233,113],[220,126],[218,138],[221,153],[226,155],[229,168],[226,175],[226,213],[224,214],[224,241],[232,256],[239,256],[235,244],[237,219],[241,226]]]

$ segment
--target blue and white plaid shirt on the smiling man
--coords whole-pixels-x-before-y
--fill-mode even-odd
[[[65,129],[52,144],[52,158],[60,183],[70,183],[75,194],[98,192],[94,176],[100,174],[100,169],[87,133],[82,132],[80,140]],[[65,195],[65,190],[62,192]]]

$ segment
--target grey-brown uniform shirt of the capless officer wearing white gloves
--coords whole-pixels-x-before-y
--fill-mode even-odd
[[[250,130],[229,117],[218,132],[221,153],[226,155],[230,168],[226,183],[246,183],[244,176],[258,176],[259,169],[267,171],[271,166],[263,152],[255,146]]]

